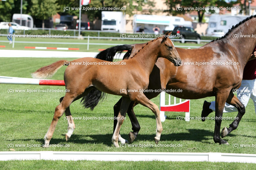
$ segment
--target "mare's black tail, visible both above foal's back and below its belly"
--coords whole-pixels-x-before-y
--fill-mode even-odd
[[[98,53],[95,58],[104,61],[113,61],[116,53],[122,53],[124,50],[132,51],[132,46],[125,44],[110,47]],[[103,100],[105,97],[106,93],[94,88],[88,93],[87,96],[84,96],[82,98],[81,103],[84,105],[85,108],[90,108],[91,110],[93,110],[94,107],[96,107],[97,104],[100,102],[100,100]]]

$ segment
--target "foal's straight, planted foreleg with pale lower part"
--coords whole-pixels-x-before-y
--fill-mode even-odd
[[[131,101],[129,98],[122,97],[122,103],[120,106],[120,110],[119,110],[118,116],[116,117],[116,119],[117,119],[116,128],[115,128],[113,136],[112,136],[112,143],[117,148],[119,148],[118,137],[119,137],[120,128],[124,122],[124,117],[126,115],[126,112],[127,112],[130,102]]]

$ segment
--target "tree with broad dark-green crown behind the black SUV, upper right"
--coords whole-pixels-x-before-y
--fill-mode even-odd
[[[211,9],[212,7],[232,7],[236,3],[237,1],[234,2],[232,0],[230,2],[226,0],[166,0],[166,4],[169,7],[167,12],[177,15],[196,10],[199,22],[202,22],[206,11],[210,14],[215,13],[215,10]]]

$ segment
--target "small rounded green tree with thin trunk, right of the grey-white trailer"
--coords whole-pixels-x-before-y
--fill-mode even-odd
[[[30,14],[42,20],[42,27],[44,28],[44,20],[57,14],[60,6],[56,0],[32,0],[32,7]]]

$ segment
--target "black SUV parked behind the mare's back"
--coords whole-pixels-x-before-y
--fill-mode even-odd
[[[163,33],[165,34],[167,31],[171,30],[164,30]],[[200,35],[192,28],[192,27],[183,27],[183,26],[176,26],[172,31],[172,35],[178,35],[180,37],[181,42],[185,43],[185,39],[195,39],[196,43],[200,43]]]

